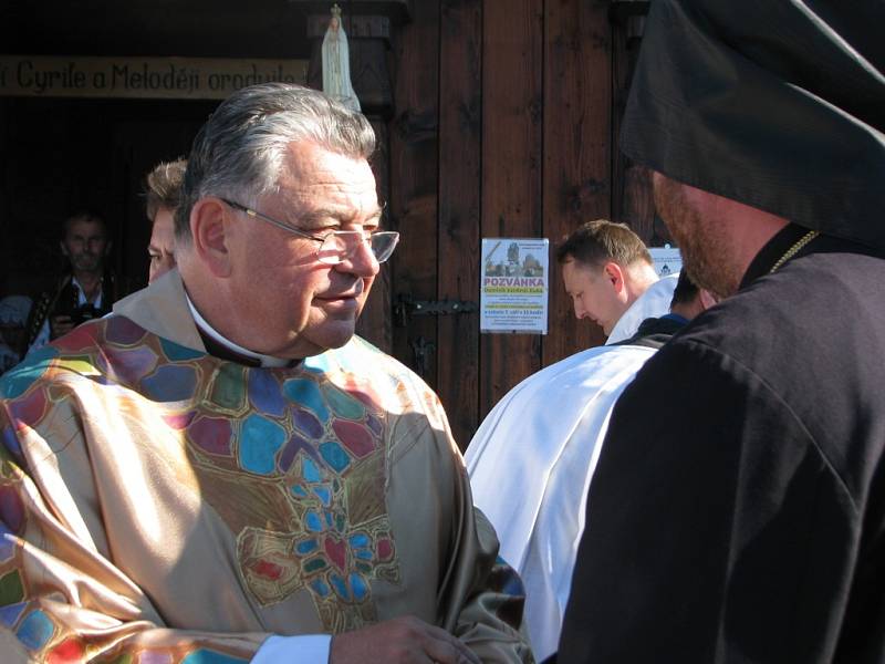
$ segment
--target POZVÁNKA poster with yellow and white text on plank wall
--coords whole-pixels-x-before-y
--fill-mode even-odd
[[[546,334],[549,253],[546,238],[482,238],[480,332]]]

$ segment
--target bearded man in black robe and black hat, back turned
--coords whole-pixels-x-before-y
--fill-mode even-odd
[[[727,297],[620,400],[559,662],[885,661],[878,0],[655,0],[624,121]]]

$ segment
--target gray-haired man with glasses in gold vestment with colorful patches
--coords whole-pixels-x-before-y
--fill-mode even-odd
[[[197,136],[177,269],[0,381],[4,662],[519,662],[519,580],[437,397],[354,336],[367,121],[244,89]]]

